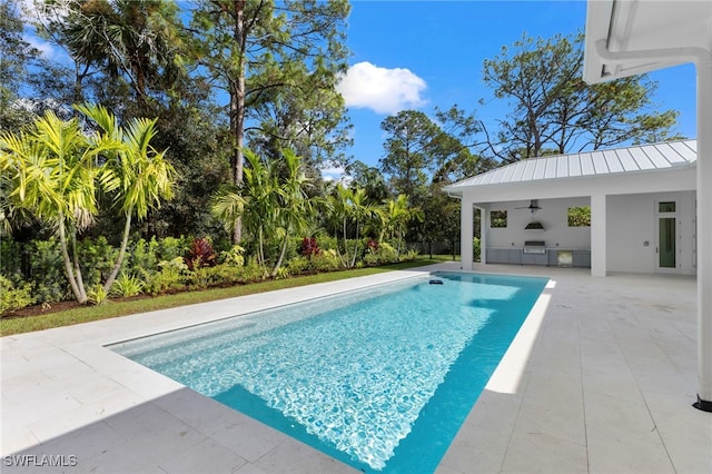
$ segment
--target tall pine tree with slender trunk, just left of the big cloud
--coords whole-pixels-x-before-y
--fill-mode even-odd
[[[259,150],[269,156],[285,148],[306,152],[333,147],[335,125],[344,115],[335,85],[346,69],[342,27],[348,10],[346,0],[198,3],[191,20],[194,49],[211,82],[229,97],[235,188],[243,185],[244,161],[251,162],[245,142],[250,119]],[[238,244],[240,215],[231,224]]]

